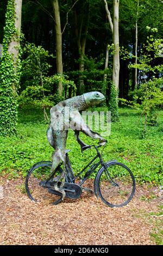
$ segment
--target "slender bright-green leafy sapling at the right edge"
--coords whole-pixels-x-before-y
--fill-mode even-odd
[[[147,27],[148,31],[157,32],[156,28]],[[130,68],[139,69],[143,78],[143,83],[132,93],[135,99],[135,106],[142,109],[145,115],[144,133],[146,133],[146,125],[158,125],[156,109],[163,104],[163,92],[161,77],[163,65],[154,65],[153,63],[162,58],[161,50],[162,40],[154,38],[153,35],[147,37],[146,45],[143,45],[138,64],[130,64]],[[151,78],[148,75],[152,74]],[[158,76],[160,76],[158,78]],[[147,79],[148,78],[148,79]]]

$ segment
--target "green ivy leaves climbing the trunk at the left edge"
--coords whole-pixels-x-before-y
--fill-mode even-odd
[[[5,15],[3,39],[3,56],[0,66],[0,134],[16,133],[17,125],[17,88],[20,78],[20,62],[17,62],[17,74],[14,70],[14,59],[8,53],[9,42],[17,33],[15,28],[14,0],[9,0]]]

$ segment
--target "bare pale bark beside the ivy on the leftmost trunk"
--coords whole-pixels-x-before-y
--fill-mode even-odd
[[[20,33],[21,33],[21,17],[22,17],[22,0],[15,0],[15,28],[16,33],[12,35],[11,41],[8,46],[8,53],[14,59],[14,71],[15,75],[17,74],[17,62],[18,62],[18,53],[20,46]],[[12,89],[15,94],[16,87],[15,84],[12,84]]]

